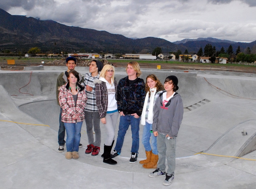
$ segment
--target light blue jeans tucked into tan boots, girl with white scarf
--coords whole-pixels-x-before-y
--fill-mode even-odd
[[[152,130],[152,124],[146,122],[146,125],[143,127],[142,144],[144,145],[146,151],[151,151],[152,149],[152,153],[158,155],[156,136],[154,136],[153,133],[150,133],[150,130]],[[150,136],[152,148],[150,145]]]

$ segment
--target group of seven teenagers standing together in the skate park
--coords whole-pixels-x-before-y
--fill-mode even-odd
[[[100,152],[100,122],[106,130],[103,162],[115,165],[113,159],[122,151],[124,137],[129,126],[132,131],[130,163],[135,163],[139,150],[140,124],[143,127],[142,144],[146,159],[139,163],[146,169],[155,169],[150,177],[165,176],[164,185],[174,179],[176,137],[183,118],[183,103],[176,93],[178,78],[166,77],[164,86],[156,75],[150,74],[144,80],[138,62],[131,61],[126,67],[128,76],[114,80],[114,66],[103,65],[92,60],[89,73],[84,76],[75,71],[76,58],[66,59],[67,71],[58,76],[56,97],[60,105],[60,126],[58,132],[59,152],[64,151],[66,159],[78,159],[82,123],[86,122],[88,146],[85,154],[97,156]],[[120,116],[116,146],[115,128]],[[95,132],[95,140],[94,133]],[[64,140],[66,130],[66,141]],[[151,138],[151,144],[150,144]],[[166,170],[166,158],[168,169]]]

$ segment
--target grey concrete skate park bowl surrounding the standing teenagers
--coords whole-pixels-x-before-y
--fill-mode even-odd
[[[58,152],[56,79],[66,67],[25,67],[0,71],[0,185],[1,188],[167,188],[252,189],[256,187],[256,75],[234,72],[142,69],[141,78],[154,73],[163,83],[179,79],[184,116],[177,137],[175,178],[151,178],[138,161],[146,158],[141,143],[138,161],[129,163],[132,137],[127,131],[117,165],[103,163],[101,152],[85,154],[88,139],[83,123],[79,159]],[[76,67],[83,75],[88,67]],[[116,68],[116,81],[126,76]],[[26,93],[26,94],[24,94]],[[33,95],[33,96],[32,96]],[[116,126],[116,136],[118,132]],[[243,135],[242,132],[245,134]],[[247,135],[246,135],[247,134]],[[114,144],[115,146],[115,144]],[[201,154],[196,154],[201,152]],[[244,159],[239,159],[239,158]]]

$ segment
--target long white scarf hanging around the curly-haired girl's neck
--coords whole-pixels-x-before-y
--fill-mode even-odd
[[[150,122],[153,121],[153,108],[154,108],[154,98],[156,95],[156,87],[154,87],[153,89],[150,89],[150,102],[149,102],[149,107],[148,107],[148,120]],[[148,96],[149,96],[149,92],[147,92],[147,95],[145,97],[145,101],[144,101],[144,106],[143,106],[143,110],[142,110],[142,115],[141,115],[141,124],[142,125],[146,125],[146,109],[147,109],[147,105],[148,105]]]

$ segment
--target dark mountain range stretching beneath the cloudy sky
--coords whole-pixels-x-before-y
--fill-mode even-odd
[[[156,37],[131,39],[124,35],[112,34],[87,28],[66,26],[52,20],[38,20],[32,17],[11,15],[0,9],[0,49],[10,51],[28,51],[31,47],[39,47],[42,52],[64,51],[74,52],[84,49],[94,53],[151,53],[161,47],[166,54],[170,51],[188,49],[190,53],[204,48],[207,43],[219,50],[231,44],[233,51],[238,45],[241,49],[256,47],[256,41],[240,43],[214,38],[184,39],[174,43]],[[255,45],[255,46],[254,46]]]

